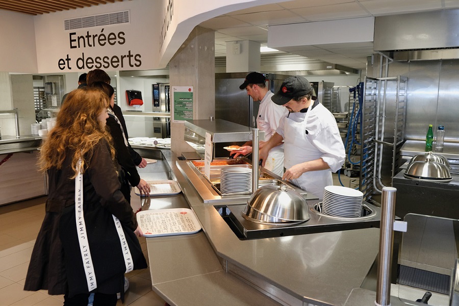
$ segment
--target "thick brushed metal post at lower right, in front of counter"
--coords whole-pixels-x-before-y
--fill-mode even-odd
[[[394,242],[395,193],[397,188],[382,188],[381,224],[379,234],[378,279],[376,306],[391,304],[391,263]]]

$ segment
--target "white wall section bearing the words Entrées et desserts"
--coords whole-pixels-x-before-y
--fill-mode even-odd
[[[89,8],[55,12],[52,14],[37,15],[35,17],[35,40],[37,45],[38,70],[40,73],[57,72],[87,72],[95,68],[104,70],[144,70],[157,68],[159,61],[158,37],[160,15],[158,10],[161,1],[136,0],[116,2],[113,4],[91,6]],[[64,20],[92,15],[130,12],[130,22],[105,26],[85,27],[84,29],[65,30]],[[72,35],[74,33],[74,35]],[[71,42],[78,36],[96,37],[95,43],[83,46],[78,42]],[[101,35],[116,36],[114,44],[107,41],[105,45],[98,43]],[[122,37],[123,39],[120,39]],[[131,60],[127,55],[133,55]],[[84,57],[120,59],[120,63],[110,63],[105,66],[79,61]],[[138,57],[138,60],[135,59]],[[66,59],[69,59],[68,61]],[[59,63],[63,63],[62,66]],[[111,60],[109,60],[111,61]]]

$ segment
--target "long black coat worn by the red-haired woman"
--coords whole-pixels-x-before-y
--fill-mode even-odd
[[[24,290],[45,289],[49,294],[60,295],[70,289],[70,296],[88,292],[87,286],[84,285],[84,274],[81,275],[81,253],[64,251],[64,245],[67,245],[67,250],[69,245],[79,247],[74,206],[75,180],[69,179],[73,174],[72,152],[67,153],[61,170],[48,171],[49,194],[46,214],[34,245]],[[107,232],[109,227],[106,216],[116,216],[127,228],[126,235],[131,238],[134,235],[135,240],[130,244],[130,248],[133,248],[131,252],[138,253],[141,249],[134,234],[137,228],[136,216],[131,205],[119,191],[120,181],[110,156],[109,145],[105,140],[94,147],[93,155],[87,162],[89,168],[83,175],[83,203],[89,246],[94,254],[93,262],[97,274],[98,270],[106,272],[112,269],[115,262],[115,256],[109,254],[110,248],[105,246],[108,243],[105,238],[100,237],[100,234],[98,238],[92,234],[97,229]],[[100,212],[104,212],[103,217],[98,217],[97,213]],[[119,246],[119,240],[117,244]],[[140,265],[135,268],[145,267],[146,262],[142,256]],[[100,280],[96,291],[106,294],[122,292],[123,275],[124,272],[117,272],[108,280]],[[77,282],[79,286],[69,286],[72,282]]]

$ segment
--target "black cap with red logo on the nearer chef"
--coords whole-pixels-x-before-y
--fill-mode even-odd
[[[277,105],[284,105],[296,97],[313,93],[310,82],[302,76],[290,76],[282,83],[281,88],[271,97]]]

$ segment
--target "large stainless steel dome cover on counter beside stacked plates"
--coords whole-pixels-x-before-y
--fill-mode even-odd
[[[299,222],[311,218],[300,193],[286,185],[266,185],[253,192],[242,212],[260,222]]]

